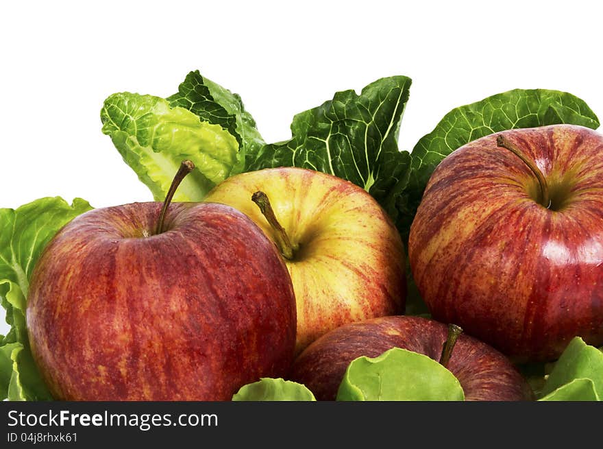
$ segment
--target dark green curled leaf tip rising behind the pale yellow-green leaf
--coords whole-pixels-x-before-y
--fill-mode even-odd
[[[256,121],[245,110],[241,97],[205,77],[198,70],[186,75],[178,93],[167,98],[173,108],[188,109],[201,119],[227,130],[239,145],[238,164],[232,174],[243,171],[245,154],[256,154],[265,145]]]

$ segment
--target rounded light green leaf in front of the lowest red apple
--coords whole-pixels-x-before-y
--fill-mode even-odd
[[[465,400],[458,379],[430,357],[393,348],[349,364],[337,400]]]

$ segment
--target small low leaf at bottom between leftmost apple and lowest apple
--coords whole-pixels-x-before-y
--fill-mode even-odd
[[[305,385],[282,378],[261,378],[258,382],[243,385],[232,396],[234,401],[315,401]]]

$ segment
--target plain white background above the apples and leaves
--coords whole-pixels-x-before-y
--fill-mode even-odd
[[[119,91],[171,95],[194,69],[239,93],[269,142],[293,114],[389,75],[413,79],[402,149],[512,88],[571,92],[603,119],[600,1],[1,4],[0,207],[150,200],[99,111]]]

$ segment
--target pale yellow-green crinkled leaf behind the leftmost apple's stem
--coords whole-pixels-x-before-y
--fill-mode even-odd
[[[195,170],[176,191],[177,202],[201,201],[240,164],[232,134],[159,97],[113,94],[105,100],[101,121],[103,133],[156,201],[163,201],[184,159],[192,160]]]

